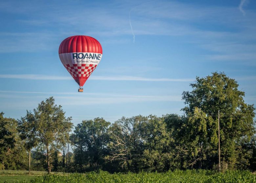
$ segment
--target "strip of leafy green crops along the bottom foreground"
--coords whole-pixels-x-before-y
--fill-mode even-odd
[[[227,171],[225,173],[217,173],[209,170],[176,170],[174,172],[165,173],[118,173],[109,174],[108,172],[100,171],[99,173],[90,172],[85,174],[51,174],[51,175],[20,175],[21,178],[1,179],[1,182],[26,182],[26,183],[181,183],[181,182],[197,182],[197,183],[254,183],[256,175],[249,171]],[[23,177],[22,177],[23,176]],[[24,177],[24,176],[27,176]]]

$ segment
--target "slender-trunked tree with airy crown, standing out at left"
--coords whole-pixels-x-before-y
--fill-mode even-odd
[[[69,139],[72,118],[65,117],[62,107],[54,104],[53,97],[42,101],[33,112],[27,111],[27,115],[20,120],[20,126],[24,133],[31,134],[28,137],[34,139],[32,142],[37,141],[39,145],[45,146],[48,173],[51,173],[49,148],[61,146]]]

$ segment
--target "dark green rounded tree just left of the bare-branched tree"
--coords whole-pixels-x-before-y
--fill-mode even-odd
[[[83,120],[75,127],[70,139],[75,146],[75,162],[80,169],[84,166],[89,166],[89,170],[98,169],[104,163],[109,141],[109,125],[103,118],[95,118]]]

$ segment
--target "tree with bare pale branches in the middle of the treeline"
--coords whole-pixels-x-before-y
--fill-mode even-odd
[[[122,117],[109,128],[110,142],[107,162],[117,163],[121,170],[139,171],[139,161],[143,154],[141,127],[147,124],[147,117]]]

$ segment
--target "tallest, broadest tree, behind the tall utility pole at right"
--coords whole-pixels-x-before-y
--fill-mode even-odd
[[[189,116],[200,109],[216,123],[220,110],[221,158],[223,165],[235,168],[241,159],[237,156],[238,142],[249,142],[255,133],[255,108],[245,104],[245,92],[238,90],[237,81],[224,73],[215,72],[204,78],[197,77],[196,83],[190,86],[191,92],[182,93],[182,99],[187,105],[183,111]]]

